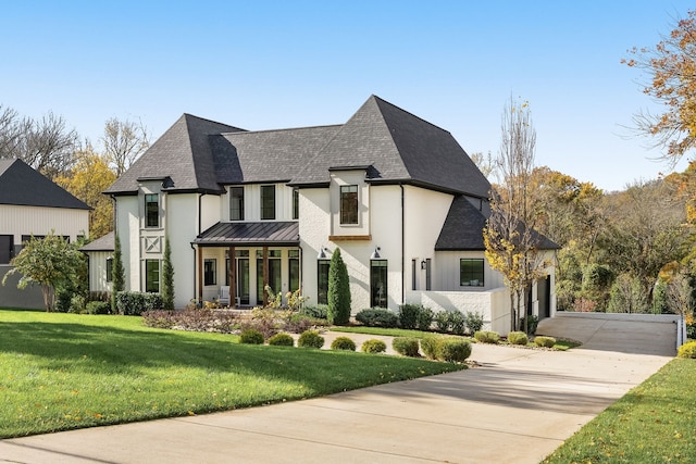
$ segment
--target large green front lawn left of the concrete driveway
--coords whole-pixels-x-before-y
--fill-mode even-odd
[[[464,368],[0,310],[0,438],[319,397]]]

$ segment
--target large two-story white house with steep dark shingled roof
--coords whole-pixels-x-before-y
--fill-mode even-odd
[[[372,96],[318,127],[247,131],[184,114],[105,193],[127,289],[159,291],[167,238],[177,308],[222,286],[253,306],[264,284],[325,302],[340,248],[353,314],[417,302],[478,311],[505,334],[508,292],[484,259],[489,189],[451,134]],[[533,292],[540,317],[555,312],[548,272]]]

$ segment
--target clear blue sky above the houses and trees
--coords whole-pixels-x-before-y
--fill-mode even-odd
[[[495,154],[513,97],[531,104],[537,165],[617,190],[669,172],[625,127],[659,108],[620,61],[689,3],[0,0],[0,104],[98,143],[113,116],[153,138],[182,113],[340,124],[374,93]]]

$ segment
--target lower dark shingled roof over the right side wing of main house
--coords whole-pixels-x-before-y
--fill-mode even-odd
[[[464,196],[455,197],[449,206],[447,218],[439,233],[436,251],[481,251],[486,247],[483,242],[483,229],[487,216]],[[539,243],[540,250],[556,250],[560,247],[546,236],[532,230],[532,237]]]

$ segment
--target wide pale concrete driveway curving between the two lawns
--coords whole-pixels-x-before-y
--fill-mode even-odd
[[[585,337],[587,346],[554,352],[475,344],[472,360],[481,366],[463,372],[264,407],[2,440],[0,462],[538,463],[674,355],[673,347],[626,352],[624,342],[636,333],[606,321],[575,333],[558,324],[539,328]],[[613,347],[598,342],[611,338]]]

